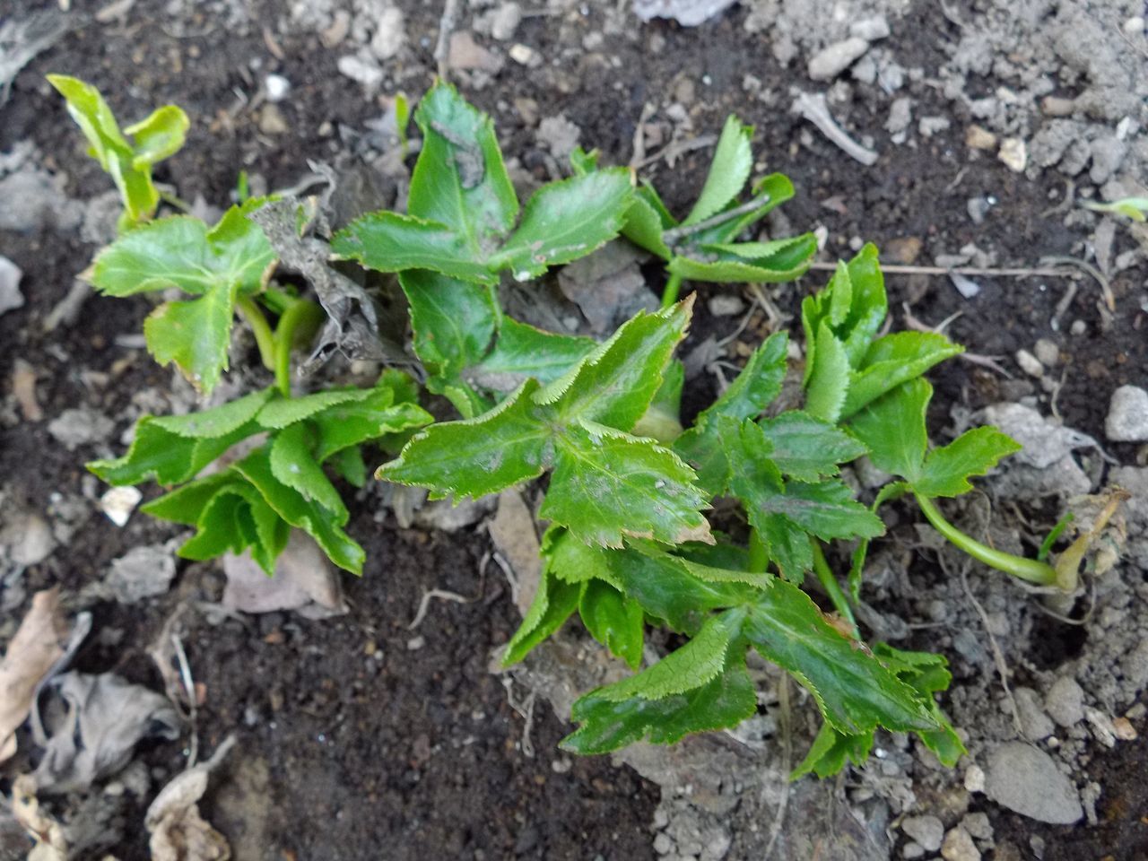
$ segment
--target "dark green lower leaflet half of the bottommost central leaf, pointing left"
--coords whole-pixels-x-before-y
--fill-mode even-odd
[[[723,672],[700,688],[662,699],[634,696],[620,701],[610,690],[599,688],[574,703],[571,720],[582,726],[561,740],[563,750],[585,755],[642,739],[673,744],[690,732],[736,727],[757,709],[744,647],[729,650]]]

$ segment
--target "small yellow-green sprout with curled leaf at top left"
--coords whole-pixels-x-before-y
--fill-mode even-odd
[[[67,75],[49,75],[48,83],[68,100],[68,113],[91,144],[88,155],[100,162],[119,189],[124,202],[121,232],[150,220],[160,205],[152,168],[184,146],[187,115],[174,104],[165,104],[121,131],[111,108],[91,84]],[[129,142],[124,135],[133,140]]]

